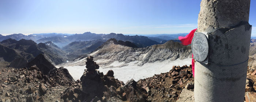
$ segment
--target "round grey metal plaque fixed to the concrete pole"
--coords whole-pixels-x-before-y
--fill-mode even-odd
[[[191,42],[191,49],[196,61],[204,61],[208,56],[209,49],[206,35],[200,32],[195,33]]]

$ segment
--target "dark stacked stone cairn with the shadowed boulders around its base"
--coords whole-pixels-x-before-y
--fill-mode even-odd
[[[81,82],[63,92],[64,102],[146,102],[146,90],[133,79],[124,84],[114,78],[112,70],[103,75],[92,56],[87,57],[86,68]]]

